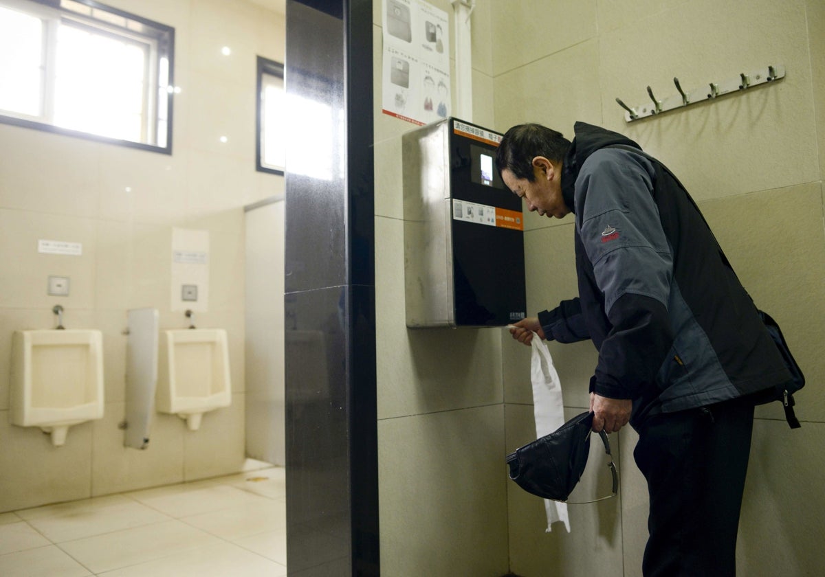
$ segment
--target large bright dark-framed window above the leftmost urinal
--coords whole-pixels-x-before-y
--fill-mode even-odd
[[[94,0],[0,0],[0,122],[171,154],[174,33]]]

